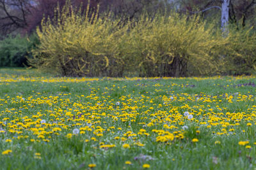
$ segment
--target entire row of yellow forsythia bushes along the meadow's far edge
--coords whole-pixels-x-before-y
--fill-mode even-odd
[[[228,36],[198,16],[141,16],[122,22],[85,13],[70,1],[36,30],[32,66],[62,76],[194,76],[255,71],[252,29]]]

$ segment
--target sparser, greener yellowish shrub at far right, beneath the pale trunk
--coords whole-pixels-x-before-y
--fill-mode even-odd
[[[226,74],[253,74],[256,70],[256,32],[253,27],[230,27],[225,55]]]

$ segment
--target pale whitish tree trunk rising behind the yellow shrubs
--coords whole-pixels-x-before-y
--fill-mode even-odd
[[[228,10],[230,0],[222,0],[221,3],[221,29],[225,36],[228,34]]]

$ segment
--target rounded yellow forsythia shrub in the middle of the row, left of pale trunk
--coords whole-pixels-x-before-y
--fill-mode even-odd
[[[213,27],[177,13],[141,18],[130,33],[140,76],[188,76],[191,68],[200,74],[218,69],[217,47],[225,40],[213,35]]]

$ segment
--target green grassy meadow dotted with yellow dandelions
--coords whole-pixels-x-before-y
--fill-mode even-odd
[[[0,169],[254,169],[255,81],[0,69]]]

